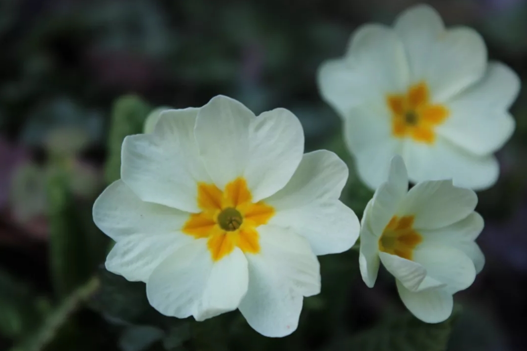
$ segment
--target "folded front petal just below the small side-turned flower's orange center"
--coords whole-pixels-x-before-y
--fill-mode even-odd
[[[426,269],[421,264],[385,252],[379,252],[379,257],[386,270],[411,291],[417,292],[444,285],[437,279],[427,276]]]

